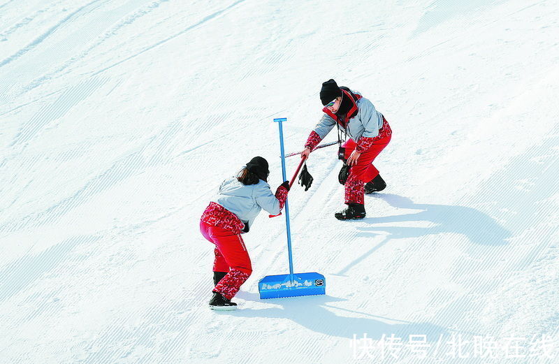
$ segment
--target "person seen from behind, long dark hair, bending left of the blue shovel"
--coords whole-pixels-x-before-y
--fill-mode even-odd
[[[255,156],[236,177],[229,177],[219,187],[200,221],[204,238],[215,244],[214,293],[212,310],[235,310],[231,298],[252,273],[252,265],[242,233],[248,233],[252,222],[264,209],[277,215],[289,191],[289,182],[282,183],[272,194],[268,184],[268,161]]]

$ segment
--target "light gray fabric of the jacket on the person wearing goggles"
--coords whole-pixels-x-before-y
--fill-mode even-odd
[[[351,91],[356,95],[361,95],[358,92]],[[345,96],[344,96],[345,97]],[[349,119],[346,129],[340,126],[342,131],[347,131],[347,135],[356,142],[365,136],[368,138],[375,138],[379,135],[379,129],[382,128],[382,114],[375,109],[375,105],[368,99],[362,97],[356,101],[357,115]],[[328,114],[324,114],[314,131],[320,136],[321,139],[330,133],[333,127],[336,126],[336,121]]]

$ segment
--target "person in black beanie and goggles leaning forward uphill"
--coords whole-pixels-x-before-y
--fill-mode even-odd
[[[379,170],[372,165],[377,155],[389,144],[392,130],[384,115],[375,109],[371,101],[347,87],[338,87],[335,80],[322,84],[320,100],[324,115],[310,133],[305,150],[308,157],[322,139],[337,125],[338,140],[347,139],[340,148],[340,159],[347,161],[349,176],[345,181],[347,208],[336,212],[338,220],[363,219],[365,217],[364,194],[382,191],[386,182]],[[344,149],[342,149],[344,148]]]

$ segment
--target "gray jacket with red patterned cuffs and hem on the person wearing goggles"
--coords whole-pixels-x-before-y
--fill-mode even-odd
[[[355,140],[357,152],[368,149],[375,138],[379,136],[384,117],[375,109],[375,105],[358,92],[351,91],[346,87],[342,88],[342,92],[344,93],[344,99],[347,98],[351,102],[347,114],[340,117],[326,107],[322,109],[324,115],[310,133],[305,147],[313,150],[336,124],[343,133],[347,133],[349,138]]]

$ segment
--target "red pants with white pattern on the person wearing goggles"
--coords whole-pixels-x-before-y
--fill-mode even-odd
[[[345,182],[345,203],[361,203],[361,205],[365,203],[365,183],[379,175],[379,170],[372,165],[372,161],[375,161],[384,147],[390,143],[391,138],[392,130],[389,123],[384,119],[379,135],[375,137],[372,145],[361,153],[361,156],[357,159],[357,164],[349,169],[349,176]],[[353,139],[348,139],[342,145],[345,148],[345,159],[349,158],[356,146],[357,144]]]

